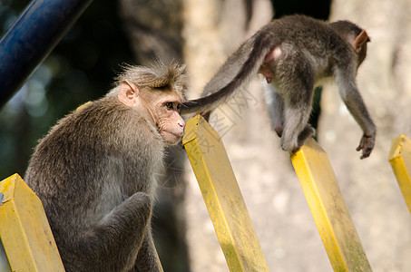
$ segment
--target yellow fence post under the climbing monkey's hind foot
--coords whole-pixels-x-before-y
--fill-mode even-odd
[[[309,139],[291,160],[334,271],[371,271],[327,153]]]

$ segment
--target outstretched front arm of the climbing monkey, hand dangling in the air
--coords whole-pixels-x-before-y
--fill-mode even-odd
[[[361,130],[364,132],[357,147],[357,151],[362,150],[360,159],[365,159],[369,157],[374,148],[377,134],[376,125],[367,111],[366,104],[357,90],[357,84],[354,79],[347,80],[347,78],[343,78],[340,73],[337,73],[336,80],[338,82],[338,92],[343,102],[346,104],[348,111],[352,114]]]

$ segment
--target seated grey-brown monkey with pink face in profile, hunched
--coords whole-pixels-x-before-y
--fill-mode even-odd
[[[58,121],[24,180],[67,271],[161,271],[151,232],[164,148],[181,140],[184,67],[127,66],[103,98]]]

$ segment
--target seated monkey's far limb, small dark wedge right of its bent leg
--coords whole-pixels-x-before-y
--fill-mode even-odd
[[[142,241],[142,247],[139,250],[132,271],[161,271],[158,261],[157,250],[152,239],[152,230],[147,228],[144,240]]]

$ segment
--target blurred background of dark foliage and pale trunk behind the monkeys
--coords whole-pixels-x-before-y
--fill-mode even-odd
[[[0,0],[3,35],[29,1]],[[318,90],[313,122],[374,271],[411,270],[411,215],[387,161],[391,140],[411,137],[411,1],[119,0],[94,1],[64,40],[0,111],[0,180],[24,176],[37,141],[66,113],[105,94],[122,63],[156,57],[187,63],[189,98],[242,41],[273,17],[347,19],[371,37],[359,90],[377,124],[371,157],[355,151],[362,132],[334,85]],[[1,65],[1,63],[0,63]],[[289,155],[270,131],[256,76],[245,99],[210,118],[226,146],[272,271],[330,271]],[[153,222],[165,271],[228,271],[181,147],[171,149]]]

